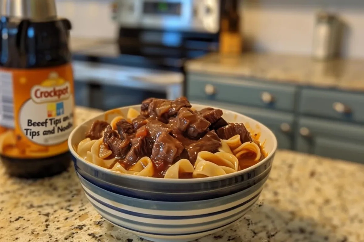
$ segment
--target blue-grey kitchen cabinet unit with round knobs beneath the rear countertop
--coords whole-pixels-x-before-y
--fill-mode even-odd
[[[192,102],[266,125],[279,148],[364,163],[364,93],[208,73],[188,73],[186,87]]]

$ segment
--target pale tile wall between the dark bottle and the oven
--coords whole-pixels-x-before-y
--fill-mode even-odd
[[[114,38],[116,24],[111,20],[112,0],[56,0],[59,16],[72,22],[72,37]]]

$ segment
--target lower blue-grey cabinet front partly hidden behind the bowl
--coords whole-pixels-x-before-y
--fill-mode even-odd
[[[246,107],[236,104],[226,104],[214,101],[201,101],[191,100],[191,103],[198,103],[213,107],[219,107],[236,111],[238,113],[249,116],[261,122],[276,135],[278,141],[278,148],[280,149],[292,149],[293,148],[293,130],[294,130],[294,118],[293,114],[288,114],[280,111],[265,110],[262,108]]]

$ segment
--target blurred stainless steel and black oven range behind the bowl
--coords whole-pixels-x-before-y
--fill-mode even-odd
[[[218,50],[219,0],[117,0],[115,41],[74,53],[76,103],[110,109],[184,93],[186,60]]]

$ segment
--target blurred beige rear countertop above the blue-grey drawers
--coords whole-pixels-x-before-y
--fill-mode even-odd
[[[293,83],[364,91],[364,60],[315,61],[310,56],[246,53],[241,56],[210,54],[188,61],[187,70],[210,74],[253,77]]]

